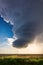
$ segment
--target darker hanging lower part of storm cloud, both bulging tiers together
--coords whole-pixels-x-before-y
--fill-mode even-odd
[[[13,42],[14,47],[27,47],[28,43],[32,42],[36,36],[37,23],[29,22],[20,26],[15,30],[17,40]]]

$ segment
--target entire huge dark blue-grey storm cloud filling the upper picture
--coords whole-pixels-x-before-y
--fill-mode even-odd
[[[17,37],[13,47],[26,47],[36,36],[43,38],[43,0],[0,0],[0,15],[13,25],[13,38]]]

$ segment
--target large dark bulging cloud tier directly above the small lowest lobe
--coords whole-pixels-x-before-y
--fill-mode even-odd
[[[34,37],[37,30],[37,23],[36,22],[29,22],[21,25],[15,30],[15,34],[18,38],[22,38],[25,40],[29,40],[30,38]]]

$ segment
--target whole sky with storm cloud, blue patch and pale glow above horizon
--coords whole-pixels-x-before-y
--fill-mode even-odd
[[[43,0],[0,0],[0,54],[43,54]]]

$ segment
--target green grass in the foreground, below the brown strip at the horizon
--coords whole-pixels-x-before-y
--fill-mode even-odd
[[[0,65],[43,65],[43,57],[14,58],[14,56],[0,57]]]

